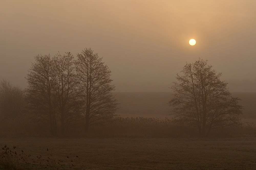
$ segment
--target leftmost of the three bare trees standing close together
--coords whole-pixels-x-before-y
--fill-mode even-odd
[[[34,57],[28,70],[28,87],[25,89],[30,110],[43,123],[50,126],[52,135],[57,135],[56,95],[57,86],[56,61],[50,55]]]

